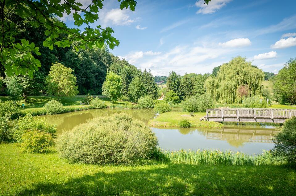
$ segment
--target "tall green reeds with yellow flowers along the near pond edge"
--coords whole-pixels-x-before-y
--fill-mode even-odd
[[[172,162],[188,165],[283,165],[286,160],[274,157],[269,151],[257,155],[220,150],[178,150],[167,151],[156,149],[152,159],[161,162]]]

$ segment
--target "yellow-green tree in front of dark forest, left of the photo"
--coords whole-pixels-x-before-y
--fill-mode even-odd
[[[53,63],[45,81],[48,94],[56,96],[58,100],[61,96],[77,95],[76,77],[72,72],[71,68],[61,63]]]

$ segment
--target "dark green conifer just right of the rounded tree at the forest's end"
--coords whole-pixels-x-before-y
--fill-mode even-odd
[[[144,83],[146,94],[149,95],[152,99],[157,99],[158,89],[150,70],[146,71],[145,69],[143,71],[142,81]]]

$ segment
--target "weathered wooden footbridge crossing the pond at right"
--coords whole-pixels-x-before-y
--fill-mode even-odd
[[[296,109],[216,108],[207,109],[203,120],[216,122],[274,122],[283,123],[296,116]]]

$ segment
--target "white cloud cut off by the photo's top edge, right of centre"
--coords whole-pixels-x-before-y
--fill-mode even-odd
[[[195,6],[199,7],[200,9],[196,12],[196,14],[213,14],[230,1],[231,0],[212,0],[211,2],[209,2],[209,5],[206,5],[204,0],[198,0],[197,2],[195,2]]]

